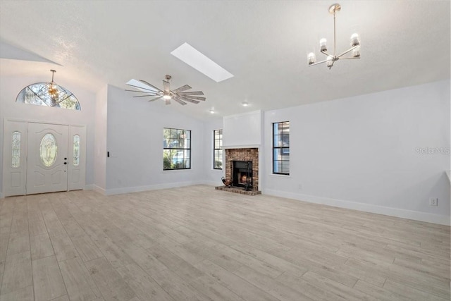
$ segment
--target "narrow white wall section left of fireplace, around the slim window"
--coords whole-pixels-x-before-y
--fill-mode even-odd
[[[223,185],[221,177],[225,175],[223,169],[213,168],[213,147],[214,147],[214,130],[223,129],[223,118],[204,123],[204,177],[203,182],[207,185],[219,186]],[[223,158],[225,153],[223,153]]]

